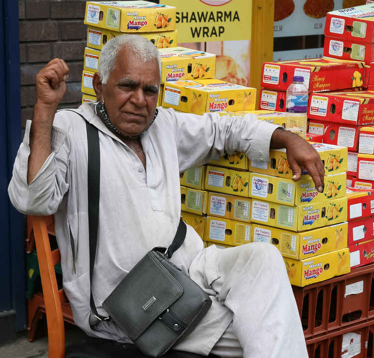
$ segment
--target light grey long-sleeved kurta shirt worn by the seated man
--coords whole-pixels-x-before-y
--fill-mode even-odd
[[[259,121],[254,115],[236,118],[211,113],[201,117],[159,108],[155,122],[141,137],[145,171],[137,155],[106,128],[89,104],[76,112],[99,130],[100,213],[92,292],[98,313],[105,316],[102,302],[129,270],[147,251],[169,246],[173,240],[181,215],[179,173],[235,151],[268,162],[270,139],[277,126]],[[63,287],[75,323],[89,335],[122,340],[124,334],[113,324],[91,327],[84,120],[71,111],[56,113],[52,153],[27,185],[30,125],[28,121],[14,163],[8,187],[10,200],[25,214],[54,214]],[[185,242],[173,255],[173,261],[188,272],[201,250],[200,237],[187,225]],[[210,266],[211,272],[206,275],[212,282],[219,273],[214,263]],[[196,331],[203,335],[198,351],[209,353],[230,321],[229,310],[213,298],[201,331]]]

